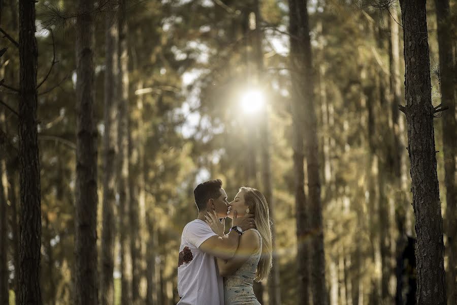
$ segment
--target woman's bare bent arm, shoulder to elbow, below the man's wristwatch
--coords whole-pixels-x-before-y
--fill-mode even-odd
[[[228,260],[217,258],[217,267],[219,268],[219,275],[227,277],[233,275],[238,268],[240,268],[245,261],[260,247],[258,234],[252,230],[247,230],[240,237],[240,244],[235,252],[235,255]]]

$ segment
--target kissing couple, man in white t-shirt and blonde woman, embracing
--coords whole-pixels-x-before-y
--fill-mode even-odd
[[[241,187],[228,202],[220,179],[199,184],[193,195],[199,215],[181,235],[178,305],[260,305],[252,284],[266,280],[272,265],[265,196]],[[226,217],[232,227],[224,234]]]

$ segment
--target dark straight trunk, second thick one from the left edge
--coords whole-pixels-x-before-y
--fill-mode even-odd
[[[97,304],[97,130],[94,120],[93,1],[78,1],[76,18],[77,137],[75,303]]]

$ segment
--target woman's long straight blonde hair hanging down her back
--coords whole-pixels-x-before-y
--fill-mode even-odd
[[[250,209],[250,214],[254,214],[255,227],[262,237],[262,254],[260,255],[254,279],[256,282],[262,282],[270,274],[273,256],[268,203],[265,196],[256,189],[241,187],[240,191],[244,192],[244,200]]]

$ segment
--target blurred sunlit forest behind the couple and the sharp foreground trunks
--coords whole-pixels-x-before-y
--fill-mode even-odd
[[[20,236],[39,199],[41,216],[30,217],[41,219],[41,234],[31,232],[41,238],[43,304],[76,302],[79,277],[89,285],[74,253],[81,229],[97,236],[83,240],[97,253],[88,272],[99,302],[176,304],[180,235],[197,215],[192,191],[213,177],[229,198],[243,185],[269,198],[275,269],[256,286],[263,304],[414,299],[408,126],[399,110],[408,27],[398,2],[105,0],[85,9],[40,0],[35,7],[37,114],[28,124],[37,130],[39,197],[21,175],[30,164],[22,133],[32,129],[18,128],[19,117],[28,118],[21,107],[33,106],[19,94],[20,56],[30,49],[15,44],[18,1],[0,2],[0,49],[8,47],[0,57],[1,302],[20,303],[21,251],[33,246]],[[426,15],[443,264],[454,304],[457,7],[429,1]],[[92,25],[83,25],[88,17]],[[76,41],[92,32],[93,88],[85,90],[77,60],[89,48]],[[90,94],[93,108],[81,112]],[[93,138],[82,144],[90,116]],[[96,176],[84,176],[90,188],[77,182],[77,151],[88,148],[96,162],[88,167]],[[77,218],[78,210],[94,222]]]

